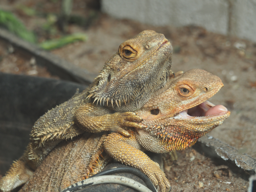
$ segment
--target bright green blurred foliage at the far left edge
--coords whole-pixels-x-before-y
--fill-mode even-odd
[[[0,26],[7,28],[15,35],[30,43],[36,43],[35,34],[28,31],[25,25],[11,12],[0,10]]]

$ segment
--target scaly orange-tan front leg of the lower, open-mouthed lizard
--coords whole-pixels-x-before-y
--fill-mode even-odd
[[[152,161],[135,138],[134,132],[129,130],[130,137],[118,133],[109,134],[104,140],[105,151],[117,161],[135,167],[144,172],[154,185],[158,185],[161,192],[170,188],[170,183],[161,171],[159,164]]]

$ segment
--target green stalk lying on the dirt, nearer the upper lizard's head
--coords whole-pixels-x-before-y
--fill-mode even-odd
[[[43,43],[39,44],[45,50],[52,50],[60,48],[66,44],[74,43],[76,41],[86,41],[87,36],[81,33],[75,33],[72,35],[64,36],[59,39],[52,39],[48,41],[44,41]]]

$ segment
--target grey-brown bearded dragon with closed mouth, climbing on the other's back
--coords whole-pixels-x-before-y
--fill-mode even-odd
[[[121,112],[141,108],[154,92],[164,87],[171,58],[172,45],[155,31],[142,31],[122,43],[88,89],[36,121],[27,150],[0,180],[0,189],[10,191],[25,183],[61,140],[72,139],[85,131],[114,130],[129,136],[122,127],[142,128],[132,122],[141,118]],[[104,108],[98,108],[97,104]],[[83,110],[83,116],[75,115],[78,108]]]

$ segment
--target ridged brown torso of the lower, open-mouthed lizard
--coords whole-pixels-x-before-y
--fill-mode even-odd
[[[102,153],[105,137],[102,133],[84,133],[73,140],[62,141],[44,159],[20,192],[60,192],[83,180],[85,170],[91,166],[91,159]],[[100,156],[97,164],[93,161],[94,173],[100,172],[111,160],[104,152],[102,155],[104,158]]]

